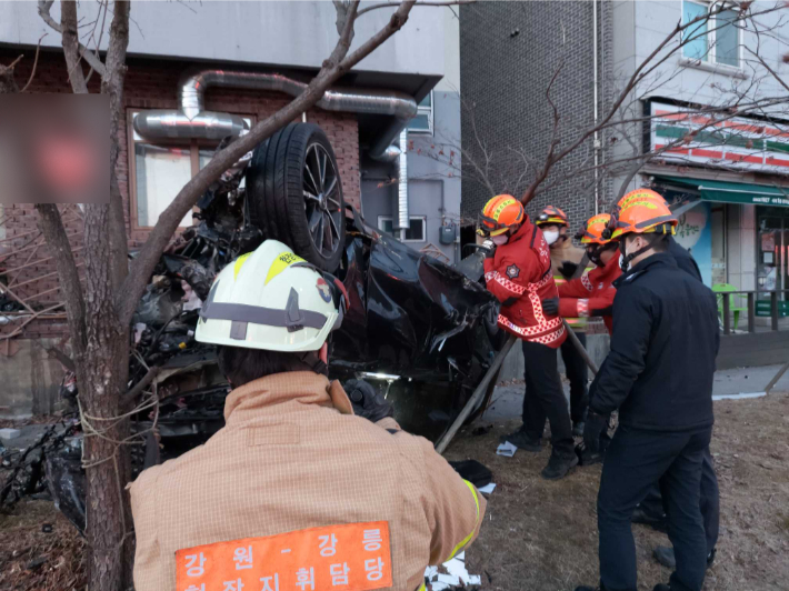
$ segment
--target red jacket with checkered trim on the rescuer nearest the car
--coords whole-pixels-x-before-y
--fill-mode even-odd
[[[488,290],[501,302],[499,325],[519,339],[557,349],[567,334],[561,318],[547,314],[542,300],[557,298],[550,250],[527,217],[509,242],[485,260]]]

